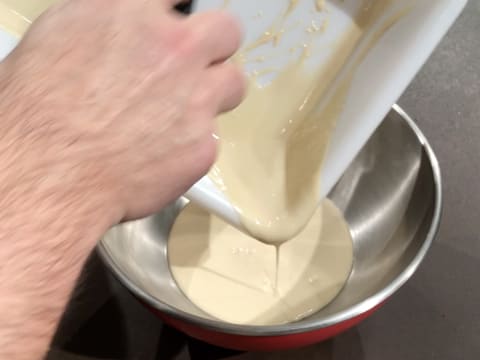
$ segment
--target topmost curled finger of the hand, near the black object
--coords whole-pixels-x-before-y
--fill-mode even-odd
[[[240,47],[242,42],[240,23],[226,12],[194,14],[185,21],[199,42],[195,54],[197,59],[207,64],[225,61]]]

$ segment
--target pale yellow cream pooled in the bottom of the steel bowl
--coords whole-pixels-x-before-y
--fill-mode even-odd
[[[223,321],[273,325],[304,318],[342,289],[353,260],[341,212],[325,201],[295,238],[263,244],[195,204],[175,221],[168,242],[172,275],[200,309]]]

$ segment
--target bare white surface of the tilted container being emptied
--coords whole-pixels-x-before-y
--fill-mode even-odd
[[[451,27],[466,2],[467,0],[397,1],[399,7],[406,3],[412,4],[413,7],[369,50],[368,55],[355,72],[325,160],[321,178],[322,196],[328,194],[355,155],[373,134],[391,106],[413,80]],[[268,28],[273,17],[279,11],[284,11],[287,3],[287,0],[263,0],[261,4],[254,0],[232,0],[231,6],[227,7],[227,10],[240,18],[246,31],[245,42],[248,43]],[[325,36],[316,37],[315,48],[328,49],[332,39],[338,39],[346,26],[351,23],[352,19],[349,14],[355,13],[355,9],[360,3],[360,0],[327,1],[330,8],[328,14],[330,25]],[[223,0],[199,0],[196,10],[218,8],[222,4]],[[395,8],[397,8],[396,4]],[[299,8],[292,16],[294,18],[292,21],[311,19],[312,9],[312,1],[301,1]],[[263,17],[260,19],[256,16],[259,11],[263,13]],[[392,14],[385,16],[389,15]],[[382,19],[385,20],[384,17]],[[320,20],[321,18],[319,18]],[[375,27],[374,25],[372,31],[375,31]],[[283,39],[284,42],[290,44],[288,46],[302,42],[305,37],[304,31],[288,33],[288,39]],[[365,41],[368,39],[366,38]],[[272,47],[267,50],[267,54],[275,54],[277,51],[282,53],[281,46],[279,48],[273,49]],[[319,66],[328,57],[324,51],[319,53],[311,57],[310,66]],[[266,66],[281,66],[282,62],[286,63],[288,60],[285,56],[280,57],[281,59],[279,56],[274,58],[274,63],[267,63]],[[246,68],[246,70],[251,69]],[[294,90],[292,89],[292,91]],[[235,209],[223,194],[214,188],[209,179],[202,179],[193,186],[187,193],[187,197],[241,228]]]

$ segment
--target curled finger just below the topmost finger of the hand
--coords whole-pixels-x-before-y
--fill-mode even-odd
[[[247,81],[242,69],[232,62],[211,66],[206,71],[206,82],[216,114],[236,108],[244,99]]]

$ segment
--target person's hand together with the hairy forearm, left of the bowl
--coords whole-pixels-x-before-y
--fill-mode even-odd
[[[41,357],[100,236],[214,161],[241,31],[176,3],[62,1],[0,64],[0,360]]]

